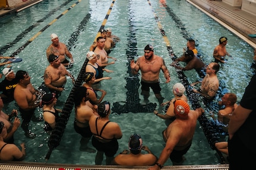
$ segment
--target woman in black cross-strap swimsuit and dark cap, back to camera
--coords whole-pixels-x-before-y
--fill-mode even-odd
[[[118,151],[118,139],[122,138],[120,126],[109,121],[110,103],[103,101],[97,108],[98,116],[91,116],[89,125],[93,133],[92,145],[97,149],[95,164],[101,165],[103,153],[106,155],[106,165],[110,165],[116,152]]]

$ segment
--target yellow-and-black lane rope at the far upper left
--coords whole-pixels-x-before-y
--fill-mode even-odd
[[[36,39],[36,37],[38,37],[43,31],[45,31],[48,27],[50,27],[50,25],[52,25],[53,23],[55,23],[59,18],[61,18],[63,15],[65,15],[70,9],[74,8],[75,5],[77,5],[79,2],[81,2],[81,0],[78,0],[77,2],[75,2],[75,4],[71,5],[71,7],[69,7],[68,9],[66,9],[64,12],[62,12],[61,15],[59,15],[58,17],[56,17],[54,20],[52,20],[48,25],[46,25],[44,28],[42,28],[42,30],[40,30],[38,33],[36,33],[33,37],[31,37],[31,39],[29,39],[25,44],[23,44],[23,46],[21,46],[20,48],[18,48],[17,50],[15,50],[14,53],[11,54],[10,57],[14,57],[16,56],[18,53],[20,53],[22,50],[25,49],[25,47],[27,47],[34,39]]]

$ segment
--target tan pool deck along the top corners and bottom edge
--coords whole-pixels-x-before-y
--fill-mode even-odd
[[[9,0],[8,9],[0,9],[0,19],[14,14],[37,4],[43,0]],[[232,7],[222,1],[208,0],[187,0],[208,16],[222,24],[224,27],[232,31],[241,39],[245,40],[254,49],[256,49],[256,39],[249,37],[248,34],[256,34],[256,16],[242,11],[241,7]],[[0,161],[0,169],[147,169],[147,166],[99,166],[99,165],[58,165],[49,163],[35,162],[2,162]],[[164,166],[163,169],[229,169],[228,165],[186,165],[186,166]]]

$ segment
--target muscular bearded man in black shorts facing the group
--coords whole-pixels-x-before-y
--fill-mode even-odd
[[[137,75],[139,70],[141,70],[141,95],[144,97],[143,104],[149,102],[150,88],[153,89],[159,105],[162,104],[163,97],[160,94],[159,73],[162,70],[165,74],[166,83],[170,82],[170,73],[165,65],[165,60],[154,54],[154,48],[150,44],[147,44],[144,48],[144,56],[139,57],[136,63],[134,60],[131,60],[132,74]]]

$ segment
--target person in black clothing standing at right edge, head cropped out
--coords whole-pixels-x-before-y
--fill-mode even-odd
[[[256,75],[245,88],[245,93],[229,121],[229,169],[254,169],[256,160]]]

